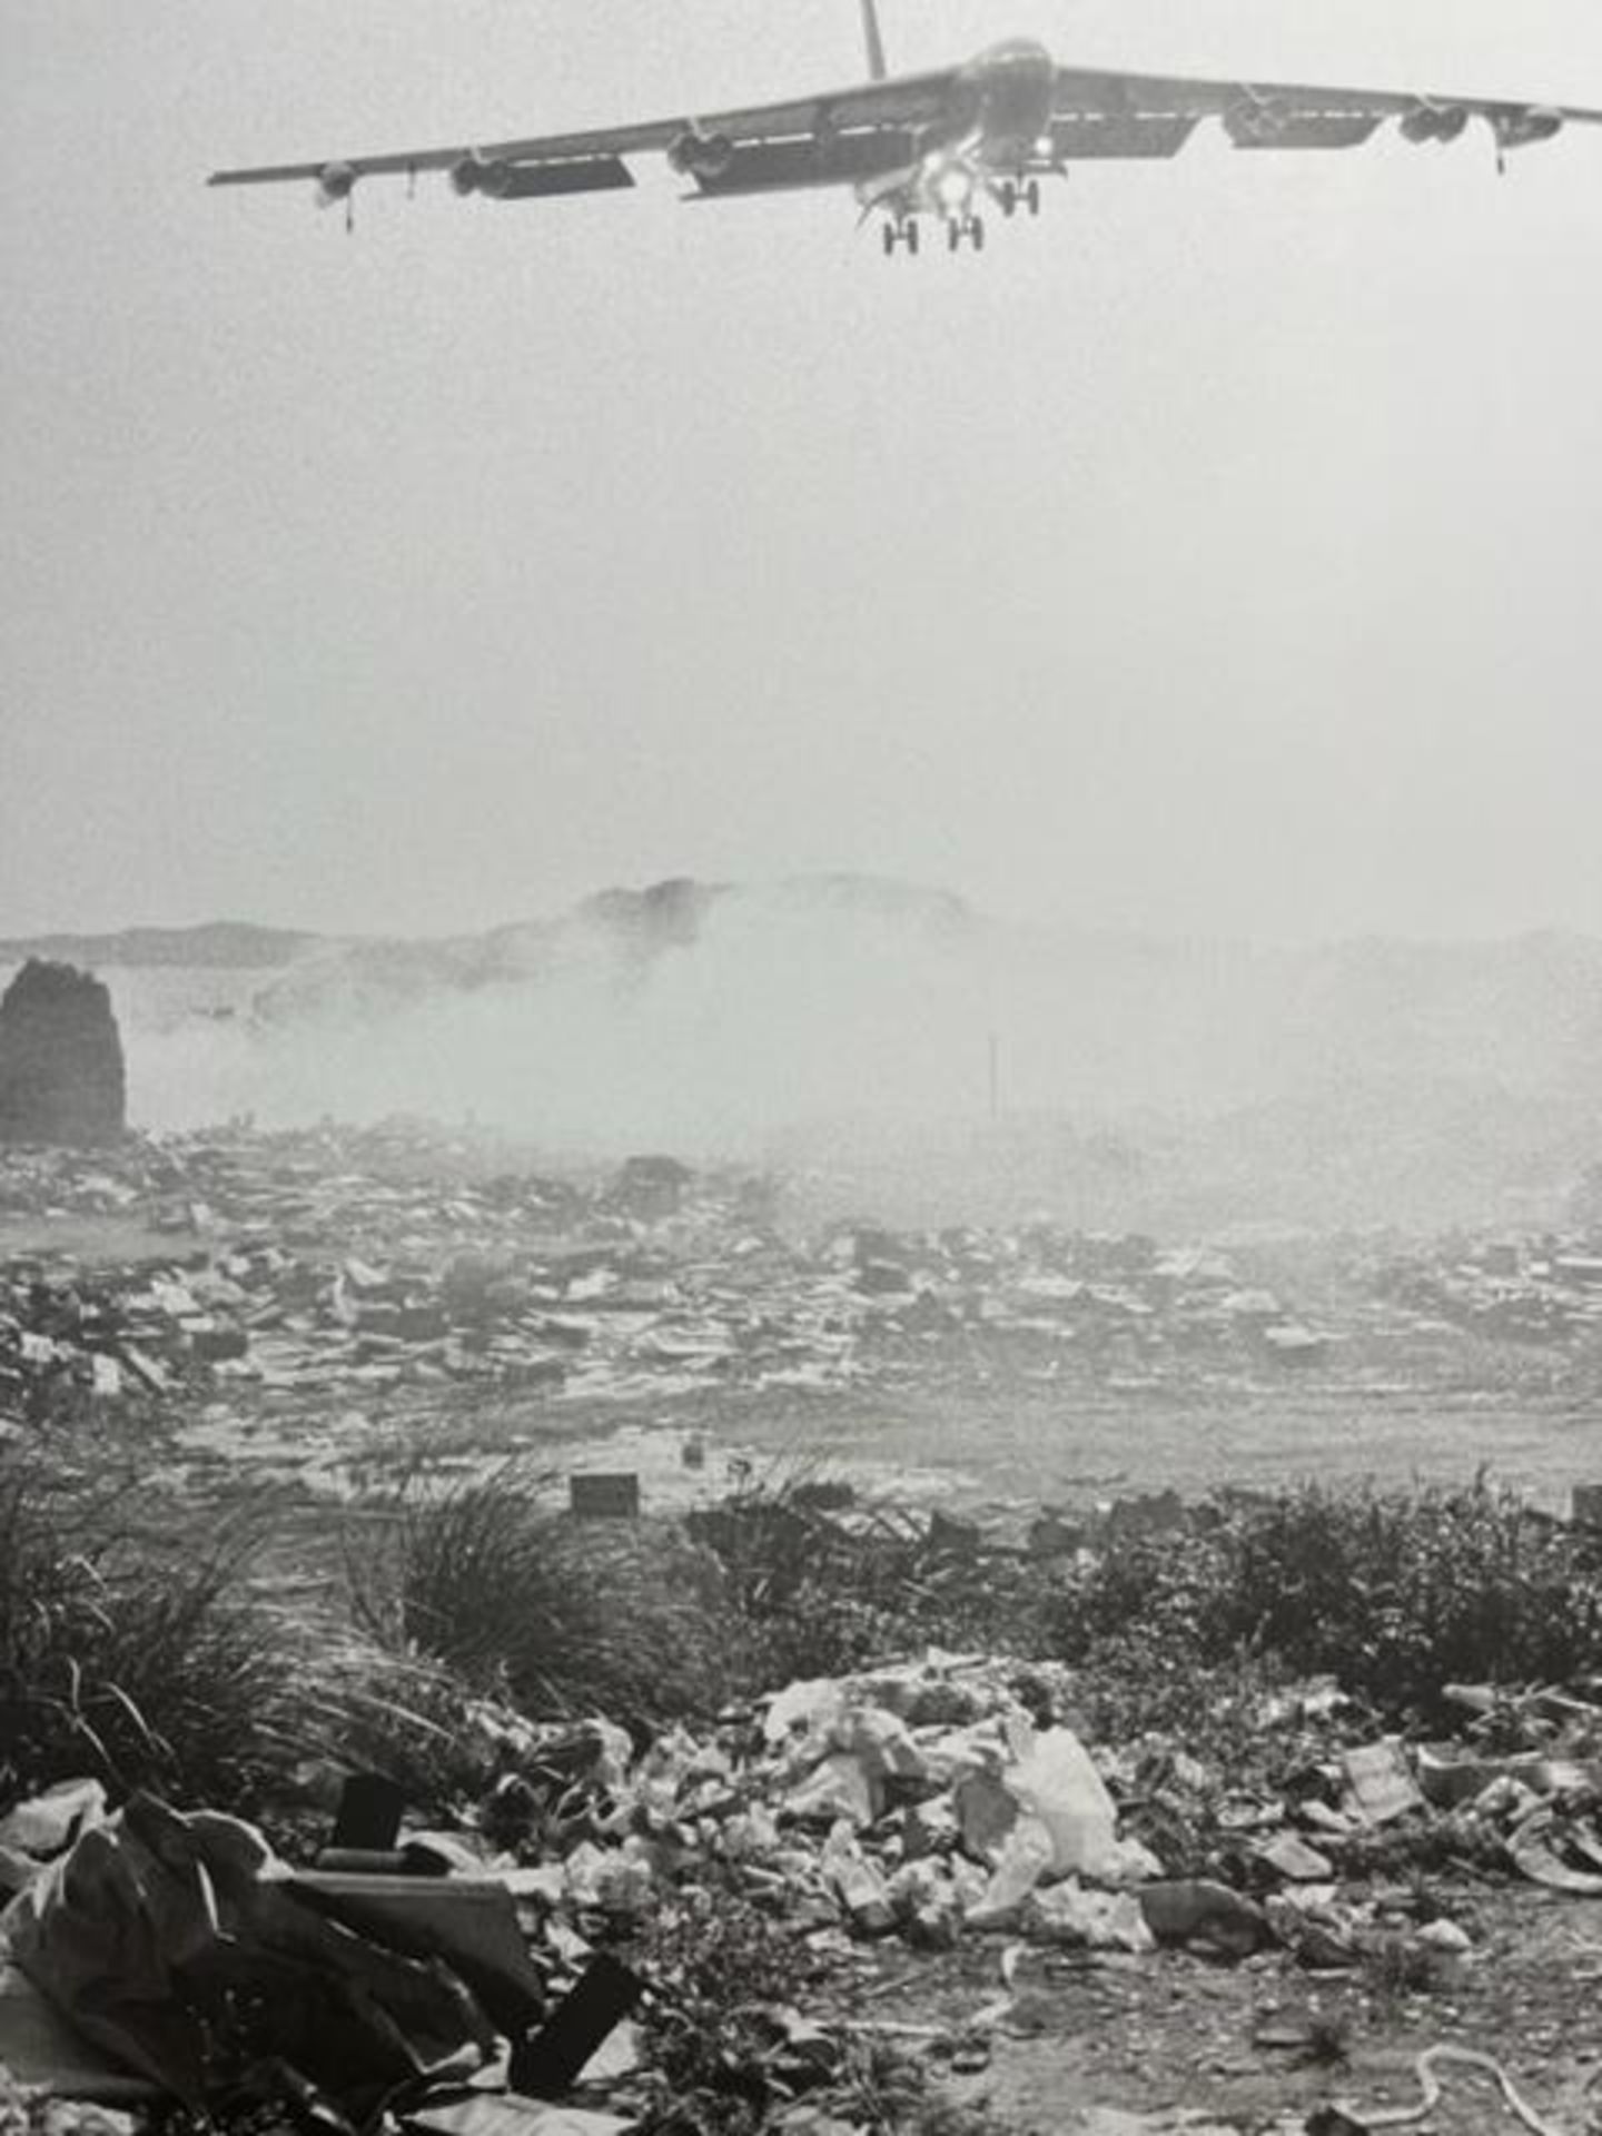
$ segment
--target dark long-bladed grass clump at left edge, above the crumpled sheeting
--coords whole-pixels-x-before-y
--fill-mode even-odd
[[[273,1504],[160,1529],[128,1508],[113,1485],[0,1465],[0,1799],[90,1775],[250,1813],[308,1762],[434,1775],[451,1687],[252,1585]]]

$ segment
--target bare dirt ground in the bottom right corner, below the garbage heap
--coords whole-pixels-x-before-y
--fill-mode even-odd
[[[1474,1952],[1448,1961],[1433,1991],[1391,1995],[1363,1974],[1301,1972],[1284,1952],[1243,1963],[1188,1952],[1156,1957],[1027,1950],[1008,2016],[972,2053],[974,2016],[1006,1997],[1006,1942],[974,1939],[948,1957],[884,1959],[857,2014],[929,2027],[955,2044],[948,2089],[987,2100],[1015,2136],[1064,2136],[1089,2108],[1149,2115],[1162,2127],[1267,2136],[1299,2130],[1320,2102],[1358,2121],[1414,2108],[1416,2057],[1438,2044],[1502,2061],[1536,2115],[1561,2136],[1602,2130],[1602,1899],[1534,1886],[1459,1886]],[[1459,1903],[1455,1899],[1455,1903]],[[1316,2021],[1344,2059],[1314,2059]],[[1519,2121],[1489,2074],[1442,2066],[1429,2136],[1510,2136]],[[1094,2123],[1113,2136],[1115,2119]],[[1143,2127],[1143,2123],[1141,2123]],[[1134,2132],[1130,2132],[1134,2136]]]

